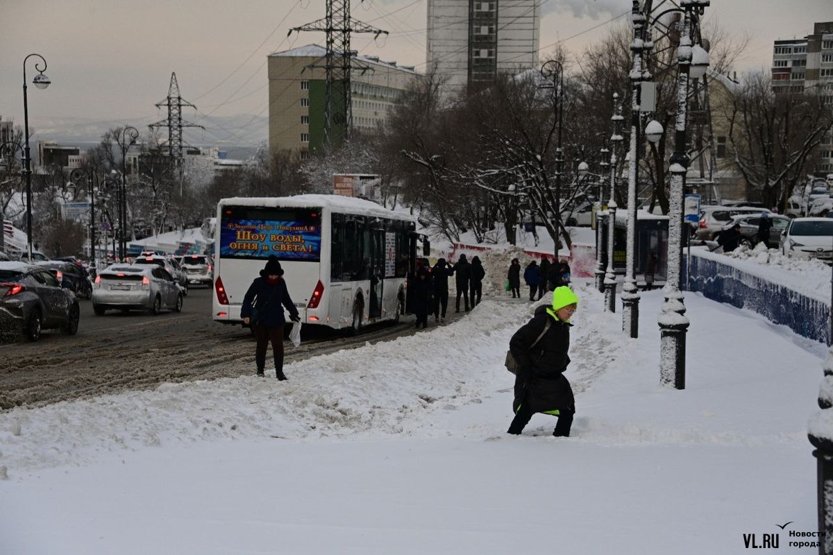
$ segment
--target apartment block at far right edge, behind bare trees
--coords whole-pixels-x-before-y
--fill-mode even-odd
[[[773,45],[772,90],[801,92],[811,88],[833,107],[833,22],[816,22],[813,34]],[[833,132],[822,139],[819,171],[833,172]]]

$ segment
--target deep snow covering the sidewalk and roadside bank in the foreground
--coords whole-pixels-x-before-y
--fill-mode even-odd
[[[788,534],[816,526],[826,347],[686,295],[687,389],[664,389],[661,291],[641,295],[636,340],[576,291],[574,437],[543,415],[505,434],[503,355],[537,303],[484,300],[289,382],[0,414],[0,552],[745,553],[744,534],[780,533],[813,553]]]

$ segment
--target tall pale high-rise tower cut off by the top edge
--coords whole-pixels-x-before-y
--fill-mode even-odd
[[[426,62],[458,94],[538,66],[541,0],[428,0]]]

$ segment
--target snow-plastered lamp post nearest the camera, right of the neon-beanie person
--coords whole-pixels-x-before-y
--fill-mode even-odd
[[[671,191],[668,211],[668,279],[662,292],[664,300],[659,317],[660,325],[660,382],[686,389],[686,331],[689,320],[680,289],[682,267],[683,192],[688,154],[686,152],[686,116],[688,80],[699,79],[708,67],[708,54],[702,47],[691,47],[691,31],[700,38],[700,16],[709,0],[681,0],[685,13],[682,22],[680,47],[677,51],[677,97],[674,154],[671,156]],[[699,48],[699,50],[697,50]],[[696,52],[695,52],[696,51]],[[705,59],[704,59],[705,57]],[[695,63],[696,62],[696,63]]]

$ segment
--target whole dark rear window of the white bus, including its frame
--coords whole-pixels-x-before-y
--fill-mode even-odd
[[[321,209],[225,206],[219,225],[224,258],[321,260]]]

